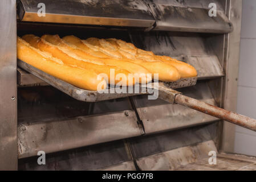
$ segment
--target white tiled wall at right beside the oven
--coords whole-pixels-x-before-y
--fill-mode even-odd
[[[243,0],[237,112],[256,119],[256,1]],[[234,152],[256,156],[256,132],[237,126]]]

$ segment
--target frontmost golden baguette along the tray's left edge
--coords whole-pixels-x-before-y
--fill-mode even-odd
[[[98,85],[104,85],[101,89],[105,89],[105,80],[102,77],[97,79],[97,74],[94,71],[64,65],[61,60],[30,46],[29,43],[19,37],[17,38],[17,57],[27,64],[78,88],[97,90]]]

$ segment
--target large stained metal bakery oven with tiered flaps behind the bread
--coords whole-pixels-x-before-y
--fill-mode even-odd
[[[211,3],[216,16],[209,15]],[[255,163],[227,154],[233,152],[231,123],[145,94],[81,96],[17,61],[16,53],[17,35],[122,39],[193,65],[197,84],[184,80],[172,88],[235,111],[241,10],[239,0],[1,0],[0,169],[240,169]],[[39,151],[46,153],[45,165],[37,162]],[[210,151],[224,166],[208,163]]]

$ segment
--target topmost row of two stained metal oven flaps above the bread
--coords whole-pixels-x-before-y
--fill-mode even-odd
[[[147,31],[182,31],[226,34],[233,25],[225,5],[217,3],[216,16],[209,16],[210,1],[60,1],[44,0],[45,16],[38,16],[40,0],[19,0],[22,22],[86,24],[89,26],[140,27]],[[38,7],[39,5],[39,7]]]

